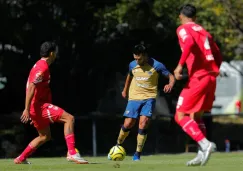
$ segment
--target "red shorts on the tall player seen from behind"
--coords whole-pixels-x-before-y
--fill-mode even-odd
[[[210,111],[213,106],[215,89],[215,76],[192,78],[179,96],[176,111],[187,114]]]

